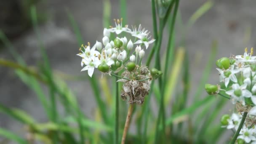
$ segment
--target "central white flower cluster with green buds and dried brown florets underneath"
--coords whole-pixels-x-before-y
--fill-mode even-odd
[[[155,40],[149,40],[150,32],[142,29],[141,25],[129,29],[128,25],[123,27],[122,20],[114,19],[115,27],[110,26],[109,29],[103,30],[102,43],[96,41],[93,47],[90,43],[82,45],[77,56],[82,57],[81,71],[88,70],[88,75],[92,77],[94,69],[97,68],[102,75],[119,77],[120,80],[117,82],[124,83],[122,99],[129,98],[129,103],[142,104],[152,78],[161,75],[160,71],[152,75],[148,68],[142,65],[144,50],[147,50],[149,44]],[[131,39],[128,40],[126,36]],[[121,75],[119,76],[118,73]]]

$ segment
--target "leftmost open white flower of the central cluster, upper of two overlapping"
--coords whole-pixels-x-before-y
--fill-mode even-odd
[[[93,45],[93,47],[91,48],[90,47],[90,43],[88,43],[88,46],[83,46],[83,49],[84,51],[82,50],[82,48],[80,48],[80,51],[82,53],[78,53],[77,56],[80,56],[82,57],[82,59],[85,59],[85,58],[93,58],[95,56],[98,56],[100,53],[99,51],[95,51],[95,48],[96,48],[96,44]],[[81,66],[83,67],[83,61],[81,61]]]

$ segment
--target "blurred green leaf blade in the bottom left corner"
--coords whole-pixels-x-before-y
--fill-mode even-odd
[[[20,136],[16,135],[15,133],[12,133],[11,131],[5,130],[3,128],[0,128],[0,136],[3,136],[12,141],[16,141],[19,144],[28,144],[28,142],[22,139]]]

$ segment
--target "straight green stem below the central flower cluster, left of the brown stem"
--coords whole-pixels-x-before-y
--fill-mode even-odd
[[[116,81],[118,78],[116,77]],[[115,88],[115,144],[118,144],[118,124],[119,124],[119,99],[118,99],[118,83],[116,83]]]

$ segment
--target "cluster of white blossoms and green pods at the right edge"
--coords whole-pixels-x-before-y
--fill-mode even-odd
[[[242,115],[244,112],[248,113],[237,138],[237,143],[240,141],[241,144],[244,142],[256,144],[256,56],[252,55],[253,48],[250,53],[245,48],[243,55],[217,60],[217,70],[224,88],[221,89],[220,85],[205,85],[209,94],[219,94],[230,99],[239,112],[239,114],[233,113],[232,116],[223,115],[221,118],[223,127],[237,130]]]

